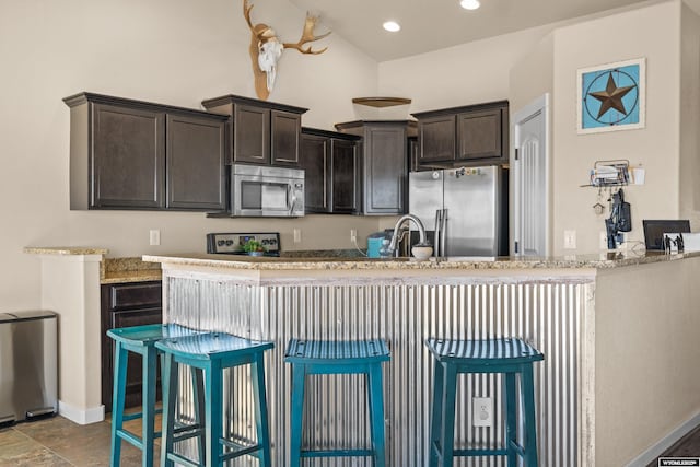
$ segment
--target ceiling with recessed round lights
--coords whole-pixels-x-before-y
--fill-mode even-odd
[[[642,0],[480,0],[464,10],[459,0],[290,0],[320,15],[318,33],[332,31],[377,61],[438,50],[528,27],[568,21]],[[382,28],[387,20],[398,33]]]

